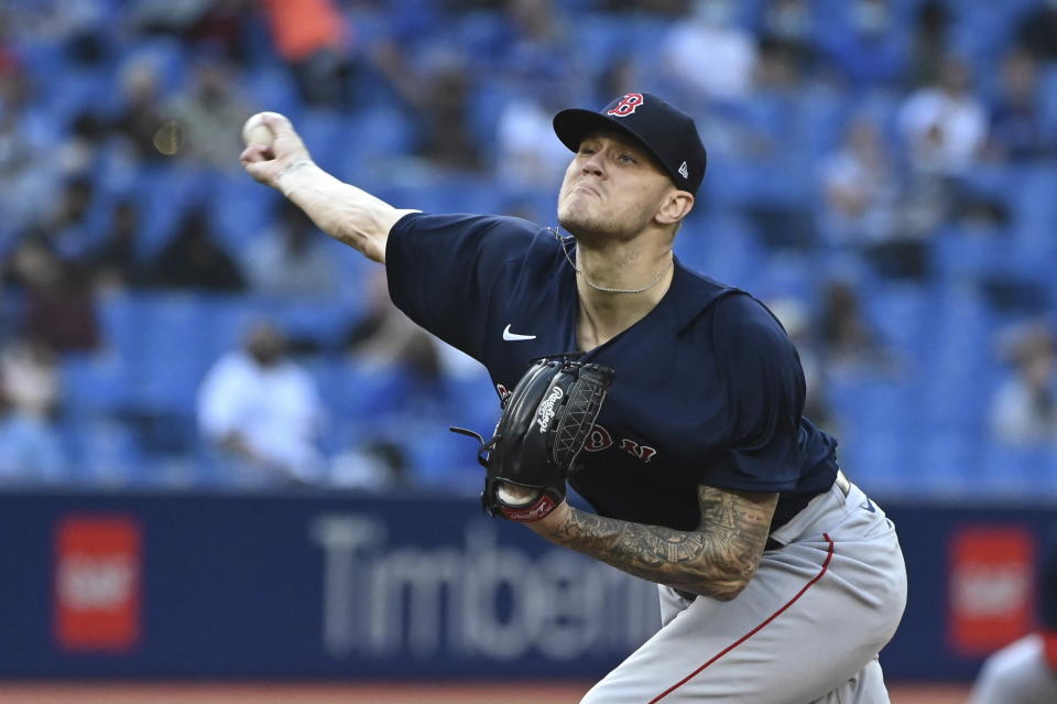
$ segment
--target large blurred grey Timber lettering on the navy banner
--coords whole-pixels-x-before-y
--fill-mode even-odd
[[[335,658],[438,653],[509,661],[621,656],[660,624],[656,587],[568,550],[530,555],[488,523],[461,543],[390,545],[383,522],[322,516],[323,640]]]

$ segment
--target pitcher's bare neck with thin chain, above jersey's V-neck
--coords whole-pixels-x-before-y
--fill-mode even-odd
[[[674,272],[671,249],[636,242],[604,250],[580,242],[576,268],[580,272],[576,277],[577,338],[585,350],[606,344],[645,317],[667,293]]]

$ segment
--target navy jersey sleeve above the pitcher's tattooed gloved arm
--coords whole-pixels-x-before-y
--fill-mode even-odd
[[[717,303],[713,345],[727,399],[728,452],[702,484],[788,491],[800,476],[805,382],[799,356],[762,303],[731,295]]]

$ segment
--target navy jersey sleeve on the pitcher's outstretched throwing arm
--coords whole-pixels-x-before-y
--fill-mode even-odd
[[[490,297],[538,227],[491,215],[405,215],[389,232],[393,303],[440,339],[481,360]]]

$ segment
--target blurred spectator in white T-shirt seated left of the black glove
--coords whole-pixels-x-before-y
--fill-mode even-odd
[[[269,323],[217,360],[198,392],[199,429],[239,484],[322,479],[323,420],[312,377],[286,357],[282,333]]]

